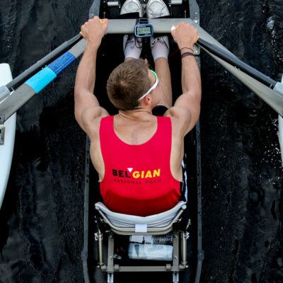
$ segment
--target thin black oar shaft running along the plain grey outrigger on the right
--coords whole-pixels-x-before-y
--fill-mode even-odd
[[[219,57],[225,62],[231,64],[233,67],[236,67],[237,69],[253,77],[253,79],[256,79],[261,83],[265,84],[265,86],[272,89],[275,87],[277,81],[271,79],[269,76],[266,76],[265,74],[262,74],[260,71],[254,69],[253,67],[250,67],[248,64],[241,61],[236,56],[229,54],[225,50],[221,50],[216,45],[213,45],[212,43],[209,43],[203,40],[202,38],[198,38],[196,44],[202,47],[204,50],[207,50],[208,52],[214,54],[215,56]]]

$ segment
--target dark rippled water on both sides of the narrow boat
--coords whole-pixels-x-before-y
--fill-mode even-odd
[[[1,0],[0,62],[13,76],[79,32],[91,0]],[[281,0],[200,0],[202,28],[279,80]],[[0,282],[83,282],[86,137],[74,120],[69,67],[18,111],[1,209]],[[277,115],[202,54],[202,282],[283,282]],[[105,95],[105,94],[104,94]]]

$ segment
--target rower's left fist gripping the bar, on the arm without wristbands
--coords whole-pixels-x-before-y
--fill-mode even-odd
[[[94,16],[81,25],[81,35],[85,38],[88,45],[90,44],[93,47],[99,47],[107,28],[107,18],[103,18],[103,20],[101,20],[98,16]]]

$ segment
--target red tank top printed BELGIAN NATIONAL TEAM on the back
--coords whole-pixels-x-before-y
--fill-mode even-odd
[[[180,199],[180,182],[170,168],[170,117],[157,117],[156,133],[144,144],[126,144],[114,132],[114,116],[100,122],[105,175],[100,192],[113,212],[148,216],[171,209]]]

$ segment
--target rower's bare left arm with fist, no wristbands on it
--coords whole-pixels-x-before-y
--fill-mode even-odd
[[[76,72],[74,90],[75,117],[81,128],[88,132],[88,125],[100,115],[108,115],[108,112],[100,108],[98,99],[93,95],[96,82],[96,55],[100,42],[107,30],[108,20],[100,23],[98,17],[81,26],[81,33],[86,39],[86,48]]]

